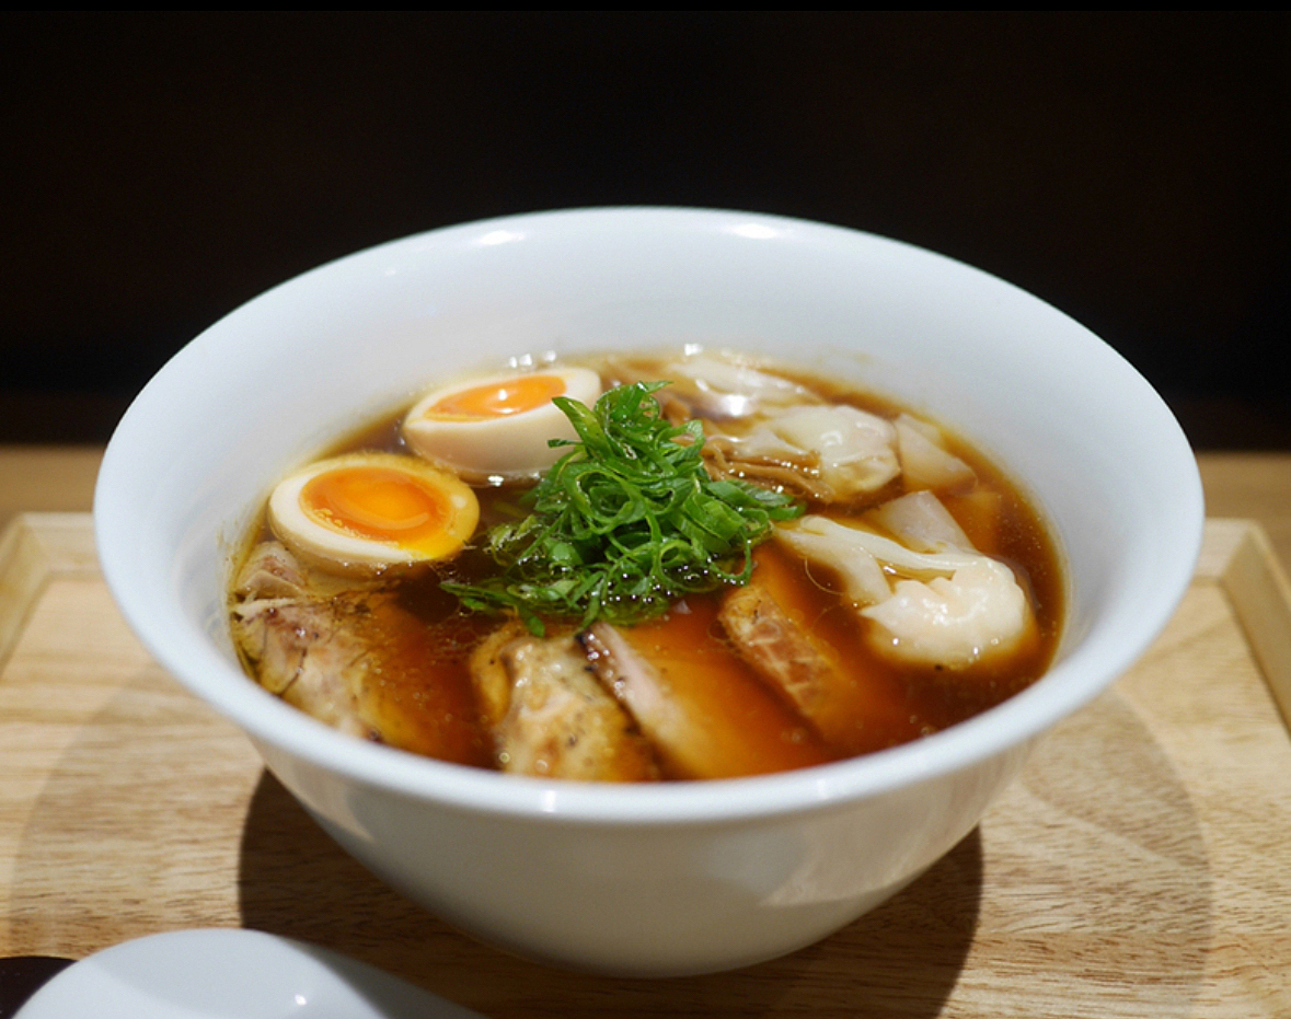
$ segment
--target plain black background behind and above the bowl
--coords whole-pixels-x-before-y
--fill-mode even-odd
[[[102,441],[320,262],[607,204],[821,219],[995,272],[1203,448],[1291,448],[1291,19],[4,14],[0,441]]]

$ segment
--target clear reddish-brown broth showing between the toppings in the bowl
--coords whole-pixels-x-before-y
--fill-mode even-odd
[[[897,404],[856,390],[843,390],[811,377],[797,377],[834,402],[892,418]],[[613,379],[607,379],[607,384]],[[337,444],[325,455],[358,450],[407,453],[400,436],[404,410],[383,417]],[[927,418],[924,418],[927,419]],[[720,774],[753,774],[802,767],[906,743],[980,715],[1029,686],[1052,660],[1064,614],[1064,578],[1057,549],[1035,507],[1019,485],[968,442],[942,427],[948,448],[977,473],[979,489],[994,493],[998,512],[986,515],[981,499],[942,495],[976,548],[1007,562],[1032,600],[1041,640],[998,666],[975,666],[970,673],[910,668],[880,658],[862,638],[862,622],[838,596],[828,569],[797,561],[782,546],[767,542],[757,551],[759,577],[790,615],[849,663],[855,724],[846,739],[826,743],[777,697],[736,654],[718,622],[723,592],[689,597],[658,620],[627,631],[629,642],[651,660],[664,663],[679,695],[713,717],[713,740]],[[846,519],[904,494],[901,479],[864,504],[830,516]],[[476,491],[479,537],[494,522],[514,516],[514,488]],[[256,540],[272,535],[262,525]],[[248,546],[248,547],[249,547]],[[399,744],[457,764],[493,766],[492,737],[474,708],[467,663],[474,648],[498,624],[496,618],[465,614],[442,591],[445,580],[478,582],[493,564],[467,548],[435,570],[385,582],[389,613],[373,619],[372,640],[382,649],[383,695],[399,706]],[[717,720],[720,713],[720,720]],[[723,733],[731,739],[724,740]],[[720,744],[720,746],[719,746]],[[722,756],[724,755],[724,756]],[[661,761],[665,778],[686,778]]]

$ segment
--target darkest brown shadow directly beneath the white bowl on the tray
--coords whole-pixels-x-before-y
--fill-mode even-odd
[[[975,828],[901,894],[818,944],[759,966],[670,980],[567,973],[480,944],[350,858],[263,773],[243,829],[243,924],[345,952],[491,1016],[799,1011],[865,1002],[874,1016],[935,1016],[963,967],[981,899]],[[627,922],[627,921],[625,921]],[[820,996],[808,988],[835,991]],[[826,1007],[826,1014],[830,1014]]]

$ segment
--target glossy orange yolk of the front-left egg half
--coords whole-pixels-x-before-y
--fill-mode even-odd
[[[451,534],[456,510],[449,495],[429,480],[389,467],[324,471],[301,490],[301,508],[332,530],[427,556],[461,544]]]

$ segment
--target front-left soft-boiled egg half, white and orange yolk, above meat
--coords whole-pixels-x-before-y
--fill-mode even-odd
[[[456,555],[479,521],[475,493],[416,457],[349,453],[311,463],[269,499],[269,525],[323,569],[382,573]]]

